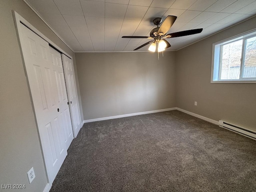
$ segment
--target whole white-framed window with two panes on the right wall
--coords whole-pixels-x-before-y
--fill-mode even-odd
[[[256,31],[213,44],[211,82],[256,83]]]

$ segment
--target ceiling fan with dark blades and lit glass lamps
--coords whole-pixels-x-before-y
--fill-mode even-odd
[[[164,51],[166,48],[169,48],[171,45],[170,43],[165,40],[164,38],[174,38],[174,37],[181,37],[186,35],[192,35],[202,32],[202,28],[200,29],[192,29],[192,30],[186,30],[186,31],[180,31],[175,33],[167,34],[168,30],[171,28],[171,26],[174,24],[175,20],[177,19],[176,16],[168,15],[162,25],[159,27],[159,24],[162,22],[162,18],[158,17],[153,20],[154,25],[157,27],[152,29],[150,31],[150,36],[122,36],[122,38],[147,38],[147,39],[153,39],[149,42],[146,42],[145,44],[137,47],[135,50],[138,50],[150,43],[150,47],[148,50],[155,52],[156,48],[158,52]]]

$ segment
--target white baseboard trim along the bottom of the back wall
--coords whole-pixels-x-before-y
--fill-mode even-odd
[[[116,115],[116,116],[110,116],[110,117],[102,117],[102,118],[96,118],[96,119],[88,119],[88,120],[84,120],[83,124],[89,123],[89,122],[95,122],[95,121],[103,121],[103,120],[109,120],[109,119],[130,117],[130,116],[136,116],[136,115],[144,115],[144,114],[171,111],[171,110],[176,110],[176,107],[168,108],[168,109],[153,110],[153,111],[138,112],[138,113],[130,113],[130,114],[124,114],[124,115]]]

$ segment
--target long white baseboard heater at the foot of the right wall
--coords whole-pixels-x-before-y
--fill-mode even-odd
[[[226,129],[229,129],[229,130],[232,130],[234,132],[240,133],[244,136],[248,136],[250,138],[256,139],[256,132],[254,130],[250,130],[248,128],[244,128],[244,127],[241,127],[241,126],[238,126],[238,125],[234,125],[234,124],[222,121],[222,120],[219,120],[219,126],[223,127],[223,128],[226,128]]]

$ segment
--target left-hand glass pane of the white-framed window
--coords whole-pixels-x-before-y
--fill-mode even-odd
[[[220,79],[239,79],[243,40],[222,46]]]

